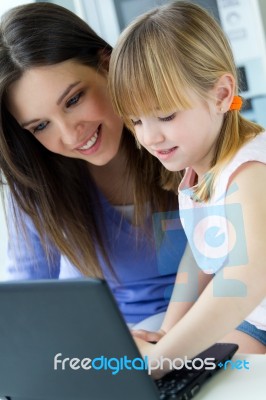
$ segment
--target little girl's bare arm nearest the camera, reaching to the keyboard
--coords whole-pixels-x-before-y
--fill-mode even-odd
[[[238,243],[239,254],[246,251],[247,262],[220,270],[185,316],[156,344],[138,341],[143,355],[159,359],[194,357],[232,331],[264,299],[266,294],[266,166],[252,162],[234,177],[238,190],[228,196],[227,206],[242,209],[245,241]],[[240,216],[239,216],[240,217]],[[237,226],[235,227],[237,232]],[[232,232],[231,232],[232,233]],[[229,244],[236,245],[234,234]],[[232,283],[245,289],[232,293]],[[167,371],[164,371],[164,373]],[[162,371],[154,371],[159,377]]]

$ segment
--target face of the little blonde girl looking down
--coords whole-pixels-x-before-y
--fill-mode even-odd
[[[214,100],[192,95],[193,108],[131,117],[138,141],[170,171],[192,167],[201,176],[208,171],[220,133],[223,114]]]

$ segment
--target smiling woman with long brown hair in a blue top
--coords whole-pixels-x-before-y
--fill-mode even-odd
[[[159,161],[113,111],[111,50],[54,4],[14,8],[1,22],[7,278],[104,276],[137,323],[166,310],[186,239],[180,229],[177,246],[167,232],[153,234],[152,212],[175,209],[177,197],[161,189]]]

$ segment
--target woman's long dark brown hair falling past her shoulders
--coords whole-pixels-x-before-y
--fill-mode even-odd
[[[16,7],[5,15],[0,27],[2,187],[9,187],[17,222],[21,221],[20,211],[29,215],[44,248],[49,248],[47,241],[54,243],[87,276],[102,276],[96,247],[108,261],[97,183],[87,162],[48,151],[18,125],[6,107],[6,90],[29,68],[70,59],[101,71],[101,55],[109,56],[111,50],[84,21],[54,4]],[[151,211],[176,206],[175,195],[161,189],[160,163],[139,150],[126,129],[120,151],[128,160],[125,179],[133,182],[135,223],[144,220],[147,203]]]

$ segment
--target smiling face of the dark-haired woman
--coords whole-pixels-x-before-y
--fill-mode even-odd
[[[8,91],[18,123],[48,150],[105,165],[118,152],[122,121],[113,111],[107,79],[68,60],[35,67]]]

